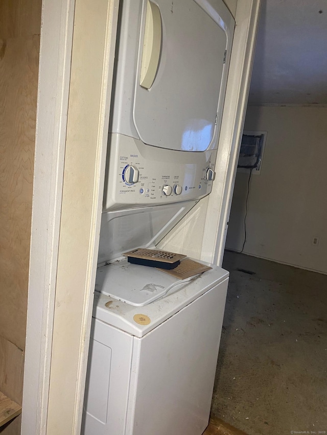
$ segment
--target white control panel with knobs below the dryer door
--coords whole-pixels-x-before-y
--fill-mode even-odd
[[[211,192],[217,150],[185,152],[109,135],[103,211],[199,199]],[[109,157],[110,156],[110,157]]]

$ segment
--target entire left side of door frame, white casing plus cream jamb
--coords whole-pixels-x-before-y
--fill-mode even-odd
[[[91,0],[42,1],[21,425],[23,435],[80,433],[92,294],[100,234],[119,0],[99,0],[98,5],[95,3]],[[104,16],[101,15],[103,11],[105,11]],[[94,16],[91,24],[94,29],[88,28],[92,12]],[[97,32],[100,25],[102,25],[102,33]],[[94,47],[83,44],[81,41],[83,36],[91,41]],[[75,64],[72,63],[72,53],[73,57],[75,54]],[[96,57],[97,62],[87,63],[88,56],[92,55]],[[93,71],[98,73],[96,78],[92,74]],[[75,93],[72,92],[71,75],[80,80],[80,88]],[[92,93],[93,87],[101,88],[102,91],[95,95]],[[96,117],[91,121],[87,119],[88,105],[96,108]],[[88,124],[92,137],[91,140],[90,137],[81,140],[83,151],[79,152],[78,149],[74,150],[76,145],[74,136],[78,135],[85,124]],[[68,131],[71,134],[69,138]],[[85,146],[86,140],[89,142]],[[81,165],[81,158],[89,157],[84,152],[87,150],[90,150],[93,155],[94,164],[85,170]],[[69,261],[75,265],[75,268],[72,267],[69,273],[65,274],[67,270],[64,257],[67,250],[64,247],[71,237],[74,237],[76,221],[75,228],[69,228],[70,222],[63,221],[62,214],[74,205],[69,204],[74,195],[75,203],[79,206],[79,199],[84,193],[81,188],[76,194],[74,186],[69,184],[69,174],[73,172],[78,173],[85,182],[92,185],[87,204],[84,203],[85,209],[81,210],[78,207],[74,209],[76,214],[89,217],[90,231],[87,238],[79,236],[79,246],[75,246],[75,252],[74,249],[69,251]],[[60,246],[62,246],[61,251]],[[74,255],[78,257],[81,252],[87,260],[86,266],[74,263]],[[58,277],[62,278],[62,276],[64,278],[60,281],[61,288],[58,289]],[[76,305],[72,301],[59,301],[60,292],[64,291],[63,285],[65,283],[68,285],[72,276],[81,276],[81,282],[77,282],[77,285],[80,286],[78,298],[82,306],[78,311],[75,310]],[[65,351],[64,338],[56,334],[64,327],[62,318],[57,319],[56,322],[56,308],[60,303],[64,317],[74,316],[76,322],[81,323],[81,328],[75,331],[75,339],[79,343],[78,350],[69,354],[69,362],[65,368],[69,376],[75,379],[74,388],[67,388],[62,392],[60,400],[56,401],[54,391],[51,395],[50,390],[51,384],[56,383],[52,372],[55,370],[56,362],[60,360],[61,352]],[[60,338],[63,339],[62,342]],[[58,380],[57,383],[60,384]],[[70,403],[71,407],[65,406],[66,400],[62,400],[62,397],[66,399],[69,394],[74,396],[73,403],[72,401]],[[55,408],[58,409],[60,405],[66,408],[69,417],[64,421],[58,410],[58,420],[62,426],[65,425],[65,429],[58,431],[58,421],[55,421],[53,416],[56,415]],[[50,422],[49,415],[52,416]]]

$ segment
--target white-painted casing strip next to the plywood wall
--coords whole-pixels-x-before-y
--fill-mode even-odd
[[[21,433],[45,434],[75,0],[43,0]]]

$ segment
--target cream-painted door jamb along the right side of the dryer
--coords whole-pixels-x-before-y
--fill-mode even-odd
[[[261,0],[238,0],[216,160],[216,180],[208,196],[201,259],[221,266],[233,185],[250,86]]]

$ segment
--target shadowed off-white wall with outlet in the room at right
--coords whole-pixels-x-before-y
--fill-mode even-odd
[[[248,107],[245,129],[268,137],[261,174],[250,181],[245,253],[327,273],[326,119],[327,108]],[[237,174],[226,240],[237,251],[247,182]]]

